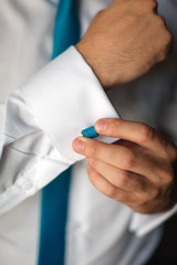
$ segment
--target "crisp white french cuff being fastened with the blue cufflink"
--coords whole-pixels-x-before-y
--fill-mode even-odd
[[[21,94],[40,127],[70,163],[82,159],[72,150],[72,141],[82,129],[98,118],[118,117],[92,68],[74,46],[31,78]]]

